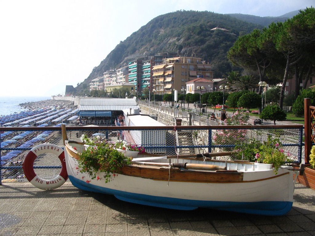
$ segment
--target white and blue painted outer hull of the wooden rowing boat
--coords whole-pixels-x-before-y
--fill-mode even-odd
[[[123,201],[180,210],[198,207],[259,215],[284,215],[292,207],[293,171],[243,171],[236,182],[185,182],[118,174],[108,183],[77,171],[77,161],[65,152],[69,179],[77,188],[113,194]],[[101,174],[100,174],[101,176]]]

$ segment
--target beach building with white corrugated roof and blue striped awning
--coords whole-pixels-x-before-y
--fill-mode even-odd
[[[123,110],[139,110],[134,98],[82,98],[79,103],[81,125],[112,125]]]

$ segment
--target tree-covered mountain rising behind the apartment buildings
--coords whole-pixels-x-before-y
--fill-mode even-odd
[[[299,11],[285,15],[290,16],[289,14],[295,12]],[[238,36],[248,34],[256,28],[262,29],[270,20],[273,22],[287,19],[289,17],[259,17],[192,10],[157,16],[117,44],[100,65],[95,66],[90,75],[76,87],[76,91],[86,93],[90,81],[102,76],[103,72],[125,66],[133,59],[154,56],[159,52],[201,57],[213,65],[215,76],[221,77],[226,71],[232,70],[226,52]],[[231,33],[211,31],[215,27],[225,28]]]

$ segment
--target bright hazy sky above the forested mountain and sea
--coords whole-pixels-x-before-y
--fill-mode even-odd
[[[0,0],[0,97],[65,94],[133,32],[177,10],[281,16],[314,0]]]

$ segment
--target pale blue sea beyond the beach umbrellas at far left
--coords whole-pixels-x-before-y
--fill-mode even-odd
[[[19,104],[27,102],[38,102],[51,99],[51,97],[0,97],[0,115],[11,115],[27,110]]]

